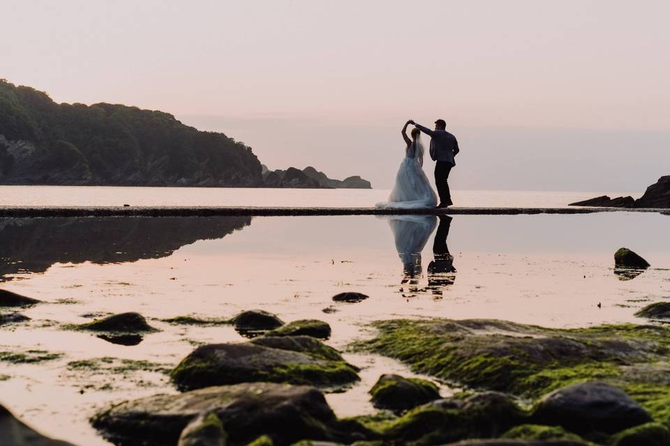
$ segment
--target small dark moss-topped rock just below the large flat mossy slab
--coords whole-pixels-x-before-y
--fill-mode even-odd
[[[407,410],[440,398],[438,386],[428,380],[389,374],[380,376],[369,393],[376,408],[391,410]]]

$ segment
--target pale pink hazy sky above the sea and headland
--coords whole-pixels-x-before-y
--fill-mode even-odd
[[[444,118],[457,189],[643,192],[670,174],[668,1],[0,5],[0,77],[170,112],[271,169],[390,187],[404,121]]]

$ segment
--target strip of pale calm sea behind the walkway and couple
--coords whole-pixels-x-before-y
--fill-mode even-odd
[[[630,192],[456,190],[455,206],[562,207],[583,199]],[[248,189],[221,187],[0,186],[0,206],[374,206],[389,190]]]

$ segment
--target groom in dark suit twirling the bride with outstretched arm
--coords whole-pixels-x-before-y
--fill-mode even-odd
[[[453,134],[445,130],[447,123],[443,119],[435,121],[435,130],[425,128],[410,119],[410,124],[415,125],[425,134],[431,135],[431,158],[435,161],[435,186],[438,187],[440,204],[438,208],[452,206],[452,196],[449,193],[449,172],[456,165],[454,157],[459,153],[459,141]]]

